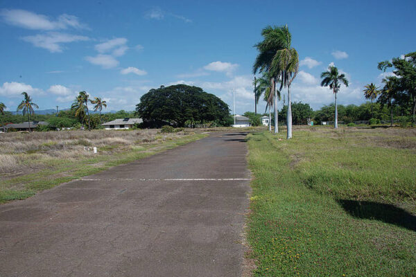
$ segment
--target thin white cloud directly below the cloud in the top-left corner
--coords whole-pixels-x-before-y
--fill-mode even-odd
[[[45,48],[51,53],[62,52],[62,45],[69,42],[80,42],[89,40],[88,37],[82,35],[70,35],[66,33],[47,33],[44,35],[31,35],[22,37],[25,42],[30,42],[36,47]]]

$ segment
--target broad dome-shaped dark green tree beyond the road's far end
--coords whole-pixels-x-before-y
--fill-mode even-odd
[[[223,125],[229,116],[228,105],[200,87],[176,84],[150,89],[136,105],[137,115],[146,121],[164,120],[183,127],[187,120]]]

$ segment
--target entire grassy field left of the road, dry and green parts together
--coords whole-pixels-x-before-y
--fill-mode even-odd
[[[201,139],[207,136],[203,131],[173,129],[162,133],[144,129],[1,134],[0,203],[24,199],[39,190]]]

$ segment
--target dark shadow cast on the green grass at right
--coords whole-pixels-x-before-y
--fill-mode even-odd
[[[338,199],[338,203],[354,217],[379,220],[416,231],[416,216],[402,208],[389,204],[344,199]]]

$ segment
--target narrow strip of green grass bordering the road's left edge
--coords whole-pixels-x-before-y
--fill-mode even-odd
[[[115,154],[79,159],[77,161],[54,161],[53,164],[48,165],[49,168],[40,170],[39,172],[12,179],[0,180],[0,204],[12,200],[25,199],[35,195],[40,190],[53,188],[67,181],[92,175],[112,166],[119,166],[123,163],[143,159],[153,154],[202,139],[205,136],[207,134],[190,134],[182,136],[179,139],[162,141],[160,143],[135,145],[128,150]],[[114,148],[116,147],[108,145],[101,148],[101,150],[112,150]]]

